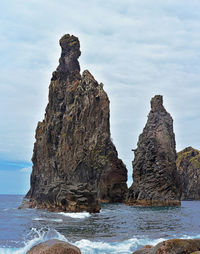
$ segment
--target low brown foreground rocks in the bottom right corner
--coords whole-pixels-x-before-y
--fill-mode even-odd
[[[142,248],[133,254],[190,254],[198,253],[200,239],[171,239],[157,244],[155,247]]]

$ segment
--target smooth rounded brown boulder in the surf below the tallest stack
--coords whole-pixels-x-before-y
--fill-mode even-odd
[[[34,246],[27,254],[81,254],[81,251],[74,245],[53,239]]]

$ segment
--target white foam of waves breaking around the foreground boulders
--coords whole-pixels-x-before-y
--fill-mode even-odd
[[[36,229],[32,229],[32,233],[35,234],[35,238],[25,243],[23,248],[0,248],[0,254],[26,254],[28,250],[30,250],[34,245],[37,245],[41,242],[50,240],[50,239],[58,239],[61,241],[68,242],[65,236],[58,233],[56,230],[49,229],[48,231],[38,231]],[[196,236],[183,236],[181,238],[199,238],[200,235]],[[90,241],[86,239],[82,239],[75,243],[72,243],[81,249],[82,254],[131,254],[136,249],[141,246],[151,244],[156,245],[159,242],[162,242],[166,239],[148,239],[148,238],[131,238],[129,240],[125,240],[122,242],[103,242],[103,241]]]

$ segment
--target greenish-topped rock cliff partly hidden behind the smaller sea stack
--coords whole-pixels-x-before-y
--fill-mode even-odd
[[[187,147],[177,154],[182,183],[182,200],[200,200],[200,151]]]

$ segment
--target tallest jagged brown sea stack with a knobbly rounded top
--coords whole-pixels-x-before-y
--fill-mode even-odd
[[[31,207],[98,212],[99,202],[122,202],[127,170],[110,139],[109,99],[89,71],[80,74],[80,45],[65,35],[49,86],[45,118],[33,152]]]

